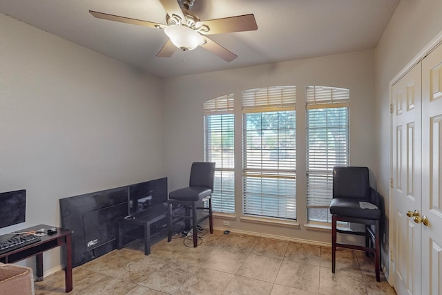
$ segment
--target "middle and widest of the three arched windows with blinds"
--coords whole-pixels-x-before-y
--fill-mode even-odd
[[[282,113],[293,112],[293,122],[291,129],[280,129],[280,115]],[[247,117],[253,115],[260,115],[261,120],[263,115],[276,114],[278,117],[277,129],[247,129]],[[261,121],[262,122],[262,121]],[[278,163],[269,167],[265,162],[266,149],[256,149],[260,153],[260,157],[253,158],[253,160],[260,160],[261,163],[253,160],[249,162],[249,153],[251,149],[247,149],[248,132],[256,131],[262,134],[265,131],[277,132],[278,149],[276,149],[276,156]],[[294,137],[291,140],[293,144],[292,149],[279,149],[280,131],[293,130]],[[293,166],[291,168],[279,169],[280,151],[294,153],[291,157]],[[271,155],[269,154],[269,157]],[[267,162],[268,164],[269,162]],[[257,166],[258,165],[258,166]],[[273,169],[272,169],[273,168]],[[286,185],[283,185],[287,182]],[[291,183],[292,182],[292,183]],[[273,193],[267,188],[270,184],[277,185],[278,193]],[[285,188],[284,188],[285,187]],[[291,191],[290,191],[291,189]],[[292,194],[290,194],[292,193]],[[268,88],[251,89],[242,92],[242,216],[251,216],[259,218],[277,218],[278,220],[296,220],[296,86],[277,86]]]

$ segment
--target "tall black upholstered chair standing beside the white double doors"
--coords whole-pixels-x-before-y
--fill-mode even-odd
[[[374,253],[376,280],[380,280],[381,234],[379,223],[383,212],[380,197],[369,186],[367,167],[336,166],[333,169],[333,200],[330,204],[332,214],[332,272],[336,268],[336,247]],[[336,222],[352,222],[365,225],[365,231],[337,229]],[[365,247],[336,242],[337,234],[365,236]]]

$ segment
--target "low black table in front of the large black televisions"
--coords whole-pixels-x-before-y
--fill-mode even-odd
[[[122,249],[124,235],[129,231],[133,230],[134,226],[143,227],[143,238],[144,238],[144,254],[151,254],[151,238],[156,234],[160,234],[163,230],[160,228],[153,228],[151,226],[155,222],[166,222],[167,218],[167,207],[165,204],[157,204],[151,208],[144,211],[134,213],[133,215],[126,216],[124,218],[117,218],[118,221],[118,241],[117,249]]]

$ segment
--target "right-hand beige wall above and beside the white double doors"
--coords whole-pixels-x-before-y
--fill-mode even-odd
[[[375,50],[376,174],[387,213],[391,198],[389,83],[442,31],[441,15],[440,0],[402,0]]]

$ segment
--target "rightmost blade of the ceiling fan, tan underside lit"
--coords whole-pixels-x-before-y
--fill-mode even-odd
[[[258,30],[254,15],[238,15],[237,17],[226,17],[224,19],[210,19],[208,21],[198,21],[195,26],[202,25],[209,27],[209,32],[201,30],[201,34],[213,35],[224,32],[244,32],[248,30]]]

